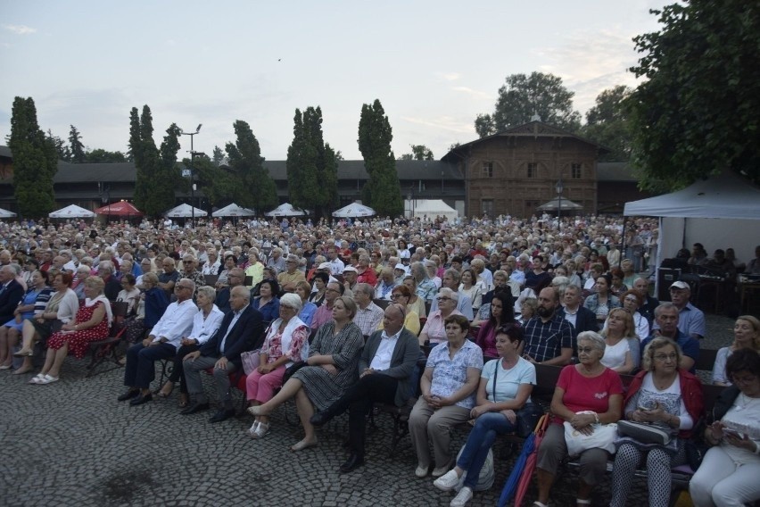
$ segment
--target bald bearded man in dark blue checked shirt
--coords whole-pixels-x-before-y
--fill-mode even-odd
[[[525,323],[523,357],[528,361],[565,366],[573,358],[573,327],[559,315],[558,305],[556,288],[541,290],[536,315]]]

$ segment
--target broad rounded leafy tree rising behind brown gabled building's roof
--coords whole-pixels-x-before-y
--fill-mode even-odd
[[[573,109],[574,95],[562,84],[562,78],[553,74],[512,74],[499,88],[494,112],[477,115],[475,131],[480,137],[491,136],[527,123],[538,114],[544,123],[577,132],[581,113]]]

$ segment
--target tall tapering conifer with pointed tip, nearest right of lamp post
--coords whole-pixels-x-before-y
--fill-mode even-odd
[[[245,121],[234,123],[235,144],[227,143],[227,158],[230,168],[237,173],[239,181],[237,204],[257,211],[277,205],[275,180],[264,167],[259,141]]]

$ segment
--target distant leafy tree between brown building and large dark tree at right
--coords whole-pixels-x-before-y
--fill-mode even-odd
[[[586,112],[581,134],[611,150],[599,155],[600,162],[623,162],[631,158],[631,128],[625,99],[631,88],[619,85],[597,96],[596,105]]]

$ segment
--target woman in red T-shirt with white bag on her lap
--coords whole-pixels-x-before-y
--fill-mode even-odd
[[[551,399],[554,414],[546,435],[541,442],[536,463],[538,482],[538,507],[549,503],[549,490],[557,475],[560,461],[567,455],[565,428],[569,422],[577,431],[585,435],[593,433],[594,423],[617,422],[623,407],[623,382],[615,371],[603,365],[604,338],[593,331],[578,335],[579,364],[571,364],[562,369]],[[593,447],[581,453],[581,470],[576,503],[588,505],[594,486],[604,478],[609,453]]]

